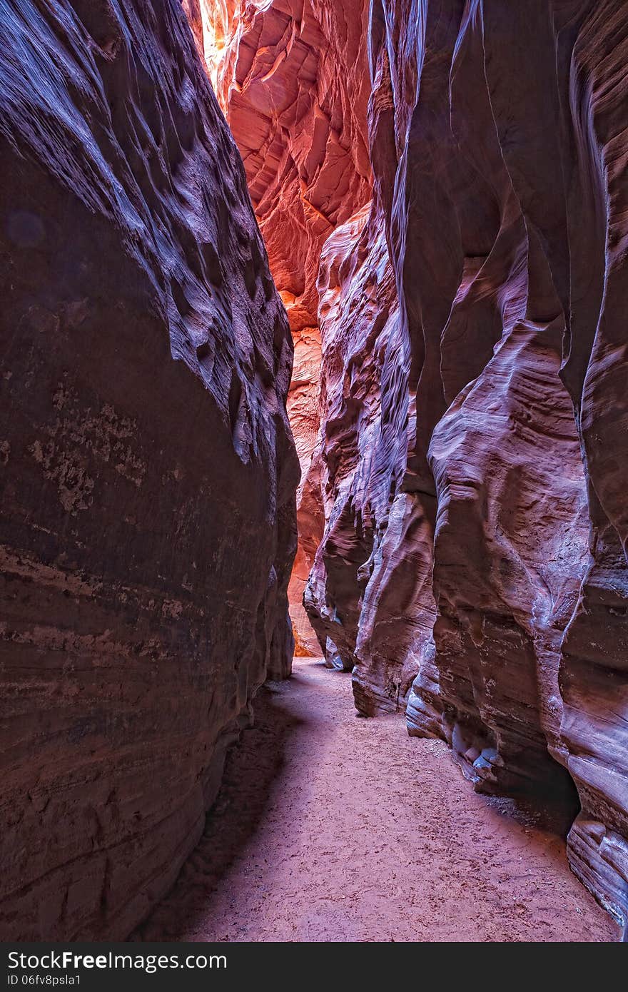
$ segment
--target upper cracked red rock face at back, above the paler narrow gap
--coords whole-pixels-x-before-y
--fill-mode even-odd
[[[369,198],[367,9],[332,0],[247,7],[228,84],[238,147],[293,332],[317,324],[320,250]],[[340,70],[341,69],[341,70]]]

